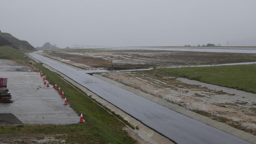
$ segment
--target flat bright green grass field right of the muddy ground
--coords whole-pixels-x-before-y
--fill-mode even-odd
[[[168,74],[256,93],[256,64],[211,67],[159,68]]]

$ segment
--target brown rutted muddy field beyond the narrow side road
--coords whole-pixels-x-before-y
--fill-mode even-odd
[[[193,51],[62,49],[41,53],[83,69],[161,67],[173,65],[208,65],[255,62],[256,54],[212,53]]]

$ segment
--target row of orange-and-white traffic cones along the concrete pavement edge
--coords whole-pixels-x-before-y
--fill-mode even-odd
[[[17,62],[20,62],[20,61],[17,60]],[[22,63],[23,65],[25,65],[25,63],[24,63],[23,61],[20,62],[20,63]],[[27,63],[26,65],[27,65],[28,67],[31,67],[31,68],[34,70],[34,72],[37,72],[37,73],[39,72],[39,70],[36,69],[35,67],[33,67],[33,65],[30,65],[30,64],[28,64],[28,63]],[[43,75],[42,71],[40,71],[39,74],[40,74],[41,77],[43,77],[44,84],[46,84],[46,86],[49,87],[49,82],[48,82],[48,81],[46,82],[46,79],[47,79],[46,75]],[[54,89],[57,90],[57,84],[55,84]],[[60,88],[60,87],[58,88],[57,93],[61,93],[61,88]],[[62,91],[62,93],[61,93],[61,98],[64,98],[64,91]],[[64,105],[68,105],[68,103],[67,103],[67,97],[66,97],[66,96],[65,96],[65,100],[64,100]],[[81,112],[79,122],[84,122],[84,120],[83,120],[83,112]]]

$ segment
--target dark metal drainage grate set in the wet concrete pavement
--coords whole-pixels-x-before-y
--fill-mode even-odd
[[[23,124],[12,113],[0,113],[0,125],[21,125]]]

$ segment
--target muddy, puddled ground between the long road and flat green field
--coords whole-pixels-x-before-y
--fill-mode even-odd
[[[151,71],[102,75],[210,118],[212,111],[213,119],[256,134],[255,99],[245,101],[242,96],[182,83],[171,75]]]

